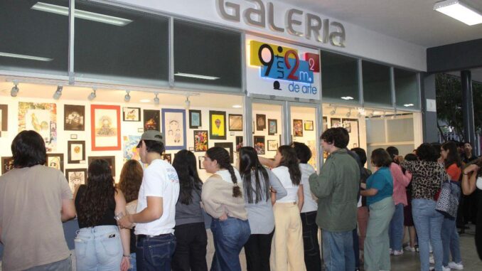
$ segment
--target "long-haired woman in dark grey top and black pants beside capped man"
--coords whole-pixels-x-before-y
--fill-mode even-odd
[[[203,181],[196,169],[196,156],[183,149],[174,156],[172,166],[179,177],[179,198],[176,203],[176,251],[172,259],[174,271],[207,271],[206,245],[208,235],[200,206]]]

